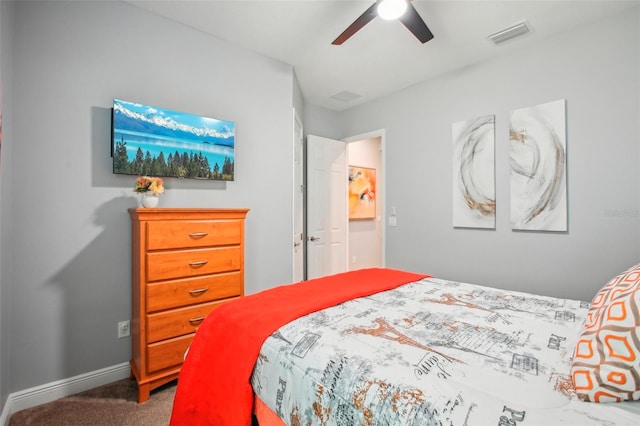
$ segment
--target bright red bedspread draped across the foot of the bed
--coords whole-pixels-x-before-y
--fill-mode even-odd
[[[171,425],[251,425],[251,373],[262,343],[274,331],[311,312],[426,276],[363,269],[272,288],[224,304],[205,319],[191,344],[178,378]]]

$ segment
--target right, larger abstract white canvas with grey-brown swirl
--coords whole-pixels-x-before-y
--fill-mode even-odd
[[[511,112],[511,228],[567,230],[565,100]]]

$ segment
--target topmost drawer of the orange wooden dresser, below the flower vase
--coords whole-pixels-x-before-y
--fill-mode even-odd
[[[241,220],[159,220],[147,222],[147,250],[240,244]]]

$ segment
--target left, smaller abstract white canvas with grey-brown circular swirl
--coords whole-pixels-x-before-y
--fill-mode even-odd
[[[453,226],[495,228],[495,117],[452,125]]]

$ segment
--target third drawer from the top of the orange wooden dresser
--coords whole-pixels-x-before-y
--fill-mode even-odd
[[[240,272],[148,284],[147,312],[242,296],[242,284]]]

